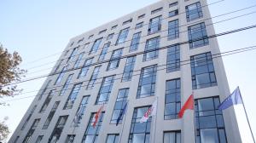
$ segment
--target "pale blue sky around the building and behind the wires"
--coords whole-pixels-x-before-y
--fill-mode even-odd
[[[208,3],[216,1],[218,0],[208,0]],[[37,77],[49,73],[50,67],[54,66],[55,63],[46,63],[57,60],[60,54],[43,60],[38,59],[61,52],[71,37],[79,35],[84,31],[89,31],[96,26],[101,26],[110,20],[119,18],[154,2],[157,2],[157,0],[3,0],[0,1],[0,43],[8,48],[9,51],[16,50],[20,53],[23,58],[22,67],[29,71],[27,77]],[[255,4],[254,0],[224,0],[221,3],[211,5],[209,8],[212,16],[214,16]],[[256,11],[256,8],[213,19],[213,22],[253,11]],[[218,23],[214,27],[216,32],[219,33],[253,24],[256,24],[256,14]],[[228,36],[218,37],[218,43],[221,51],[224,52],[256,45],[255,36],[256,29],[241,31]],[[256,114],[253,114],[255,109],[254,102],[256,100],[255,57],[256,51],[253,50],[242,54],[230,55],[224,57],[223,60],[230,83],[230,90],[236,89],[237,85],[240,86],[248,117],[251,121],[253,132],[256,135]],[[31,62],[34,60],[37,61]],[[32,68],[34,66],[39,67]],[[44,70],[47,68],[48,70]],[[38,90],[43,82],[44,78],[19,85],[24,89],[24,92],[27,92]],[[37,92],[20,94],[15,98],[35,94]],[[11,131],[14,131],[18,123],[20,123],[21,117],[23,117],[33,100],[32,97],[23,100],[15,100],[15,98],[0,99],[0,101],[11,100],[8,102],[10,106],[0,106],[0,120],[8,116],[8,124]]]

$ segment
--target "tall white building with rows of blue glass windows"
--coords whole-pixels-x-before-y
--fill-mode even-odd
[[[210,17],[206,0],[162,0],[73,37],[9,142],[241,142],[233,107],[218,111],[230,90]]]

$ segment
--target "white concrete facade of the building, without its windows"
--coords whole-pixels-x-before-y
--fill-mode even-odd
[[[61,63],[61,66],[58,68],[59,69],[58,72],[61,72],[62,67],[66,66],[67,57],[71,54],[72,50],[76,47],[79,47],[79,51],[76,54],[75,59],[79,57],[80,53],[84,52],[84,56],[81,62],[79,63],[79,68],[72,70],[72,67],[75,62],[69,62],[69,68],[65,73],[64,77],[62,78],[61,83],[58,85],[55,85],[55,81],[59,73],[58,72],[55,73],[55,68],[52,70],[51,72],[52,75],[49,76],[44,82],[44,85],[38,92],[38,95],[36,96],[36,98],[33,100],[32,105],[29,107],[28,111],[26,112],[26,115],[20,121],[19,126],[15,130],[15,133],[13,134],[9,142],[13,143],[15,142],[15,140],[16,142],[22,142],[25,139],[28,131],[31,129],[32,123],[37,118],[40,118],[40,121],[38,123],[37,128],[34,130],[29,142],[32,142],[32,143],[36,142],[36,140],[38,139],[38,135],[44,135],[41,142],[48,142],[50,135],[55,129],[55,124],[57,123],[58,118],[60,116],[66,116],[66,115],[68,115],[67,122],[65,123],[64,129],[61,132],[59,142],[65,142],[65,140],[67,140],[67,134],[75,134],[75,138],[73,142],[81,142],[83,139],[85,130],[87,129],[87,126],[89,124],[91,113],[97,112],[98,109],[102,106],[102,105],[96,105],[96,98],[102,85],[102,77],[116,75],[114,77],[115,80],[113,82],[113,88],[109,95],[108,103],[106,103],[106,105],[103,108],[105,115],[102,120],[102,127],[98,134],[99,143],[106,142],[108,134],[119,134],[119,142],[124,142],[124,143],[128,142],[130,129],[131,129],[131,120],[132,120],[134,109],[136,107],[141,107],[141,106],[150,106],[156,99],[156,96],[158,97],[157,117],[152,118],[152,123],[150,128],[150,142],[161,143],[164,140],[164,132],[179,130],[181,133],[182,143],[194,143],[195,142],[194,111],[186,111],[183,118],[176,118],[176,119],[169,119],[169,120],[164,119],[165,100],[166,100],[166,81],[180,78],[181,106],[183,106],[184,102],[188,99],[192,91],[194,91],[195,99],[217,96],[222,101],[224,100],[224,98],[226,98],[230,94],[229,85],[224,72],[224,65],[223,65],[222,59],[221,58],[212,59],[214,71],[217,79],[217,85],[207,87],[207,88],[201,88],[201,89],[192,89],[190,64],[180,66],[180,70],[176,72],[166,72],[166,70],[160,70],[163,68],[163,67],[160,67],[160,65],[166,65],[167,49],[160,49],[158,58],[154,60],[143,61],[143,54],[138,54],[138,53],[142,53],[145,50],[146,41],[152,37],[160,36],[160,48],[173,45],[175,43],[182,43],[182,42],[188,41],[189,40],[188,27],[201,22],[205,22],[208,36],[213,35],[215,33],[212,26],[212,20],[206,20],[210,17],[210,13],[206,6],[207,2],[205,0],[178,1],[176,6],[172,6],[171,8],[169,8],[169,4],[175,3],[175,2],[177,1],[162,0],[158,3],[151,4],[143,9],[139,9],[134,13],[127,14],[117,20],[113,20],[108,24],[99,26],[96,29],[87,31],[77,37],[73,37],[70,40],[70,42],[67,44],[65,51],[61,54],[61,57],[59,61],[56,63],[55,68],[59,65],[61,60],[64,59],[63,62]],[[188,6],[189,4],[197,3],[197,2],[201,3],[203,16],[199,19],[191,20],[190,22],[188,22],[186,19],[185,7]],[[155,14],[151,14],[151,12],[154,9],[160,9],[160,8],[162,8],[162,10],[160,10],[159,12],[156,12]],[[179,14],[177,14],[176,16],[169,17],[168,16],[169,12],[176,9],[178,9]],[[142,14],[145,14],[145,16],[138,20],[137,17]],[[148,35],[149,20],[159,15],[162,15],[160,31],[154,34]],[[124,21],[130,20],[130,19],[132,19],[130,23],[123,25]],[[177,20],[177,19],[179,20],[179,37],[173,40],[168,40],[167,39],[168,22],[172,20]],[[135,26],[137,25],[137,23],[140,23],[140,22],[143,22],[144,26],[141,28],[135,29]],[[116,26],[116,25],[117,27],[115,29],[112,29],[112,26]],[[119,31],[121,31],[122,29],[125,29],[126,27],[130,27],[130,28],[129,28],[128,36],[126,37],[125,43],[120,43],[118,45],[115,45],[117,38],[119,37]],[[105,29],[107,29],[106,32],[99,34],[99,31],[103,31]],[[129,52],[132,36],[134,33],[138,31],[142,31],[138,49],[137,51]],[[107,40],[108,35],[111,33],[114,33],[113,38],[110,40]],[[90,35],[94,35],[94,36],[88,39]],[[102,43],[99,46],[99,49],[96,51],[96,53],[90,54],[90,49],[94,41],[100,37],[103,37],[103,39],[102,39]],[[79,42],[79,40],[81,40],[81,42]],[[81,70],[80,67],[83,66],[84,60],[89,59],[90,57],[94,57],[94,59],[92,60],[92,63],[96,63],[98,60],[99,54],[101,54],[102,52],[103,45],[105,43],[108,43],[109,41],[111,42],[111,46],[108,49],[108,53],[105,56],[105,60],[110,59],[112,55],[112,51],[115,49],[122,48],[123,49],[122,56],[137,54],[134,72],[133,72],[131,81],[128,81],[128,82],[121,81],[122,75],[120,73],[124,72],[126,58],[120,60],[119,67],[117,69],[107,71],[108,62],[105,62],[102,64],[96,64],[89,67],[89,71],[87,72],[85,77],[78,78],[79,72]],[[86,44],[86,43],[89,43],[89,44]],[[67,55],[65,55],[67,50],[69,50],[69,52],[67,53]],[[218,48],[217,38],[210,38],[209,43],[207,45],[201,46],[195,49],[189,49],[188,43],[181,44],[180,60],[181,61],[190,60],[190,57],[193,55],[203,54],[207,52],[211,52],[212,55],[218,54],[220,52]],[[98,79],[96,80],[96,84],[94,88],[86,89],[89,83],[91,74],[94,71],[94,68],[99,65],[101,65],[102,67],[98,74]],[[145,98],[137,98],[137,89],[138,89],[138,83],[140,80],[141,70],[143,67],[152,66],[152,65],[158,66],[157,67],[158,71],[156,72],[156,83],[155,83],[154,95],[148,96]],[[49,101],[49,105],[47,106],[45,112],[44,113],[39,112],[48,94],[44,94],[41,100],[38,100],[38,98],[40,94],[42,94],[48,81],[52,80],[51,83],[49,83],[49,86],[48,86],[49,89],[46,89],[45,93],[49,93],[51,89],[56,89],[56,91],[60,91],[64,83],[66,82],[68,75],[70,75],[71,73],[73,73],[74,75],[71,80],[71,83],[68,85],[66,93],[62,96],[59,96],[59,92],[56,92],[53,95],[52,99]],[[63,106],[65,106],[67,98],[71,90],[73,89],[74,83],[82,83],[82,87],[79,90],[79,94],[77,98],[74,100],[72,109],[63,110]],[[125,88],[129,88],[128,108],[124,116],[125,119],[123,119],[125,120],[125,122],[119,124],[119,126],[116,126],[115,124],[110,123],[110,120],[113,116],[113,107],[115,105],[115,102],[119,93],[119,89],[125,89]],[[84,95],[90,95],[90,98],[88,100],[88,104],[85,108],[84,116],[81,119],[81,123],[79,124],[79,127],[73,128],[73,118],[75,117],[75,114],[79,109],[79,104]],[[49,116],[49,112],[52,109],[52,106],[55,104],[55,101],[60,101],[60,104],[56,109],[56,112],[49,123],[48,129],[42,129],[46,121],[46,118]],[[28,123],[26,123],[26,127],[21,130],[22,126],[26,122],[27,117],[29,117],[29,114],[32,111],[33,106],[37,106],[37,107],[35,108],[35,111],[32,113],[32,116],[29,118]],[[223,117],[224,117],[224,129],[226,133],[227,142],[230,142],[230,143],[242,142],[241,135],[238,131],[239,129],[236,123],[236,115],[233,107],[230,107],[230,109],[224,111]],[[17,138],[18,136],[19,138]]]

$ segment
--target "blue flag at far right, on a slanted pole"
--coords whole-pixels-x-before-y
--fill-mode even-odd
[[[230,106],[242,104],[240,89],[237,87],[219,106],[218,110],[222,111]]]

